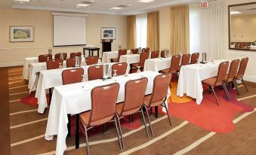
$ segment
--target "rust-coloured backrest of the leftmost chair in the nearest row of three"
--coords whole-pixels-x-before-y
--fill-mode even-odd
[[[116,99],[119,93],[119,84],[108,84],[94,87],[91,90],[91,115],[88,126],[100,125],[112,120],[116,113]],[[85,103],[86,104],[86,103]]]

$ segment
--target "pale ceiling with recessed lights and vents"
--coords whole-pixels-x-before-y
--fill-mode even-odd
[[[182,5],[200,2],[199,0],[156,0],[154,2],[142,3],[137,2],[138,0],[94,0],[93,4],[88,7],[76,8],[76,5],[81,2],[90,1],[91,0],[31,0],[30,2],[20,3],[13,0],[12,8],[130,15],[157,11],[159,8],[170,5]],[[110,9],[118,5],[125,5],[127,8],[122,8],[120,10]]]

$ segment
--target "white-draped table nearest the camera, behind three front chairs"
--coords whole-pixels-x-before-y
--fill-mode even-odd
[[[148,78],[147,90],[145,95],[151,94],[153,91],[153,80],[159,73],[155,71],[142,71],[139,73],[122,75],[109,80],[86,81],[77,84],[69,84],[54,87],[51,99],[50,111],[48,114],[48,123],[45,132],[45,139],[53,140],[57,135],[56,154],[63,154],[66,150],[66,135],[68,133],[67,114],[80,114],[84,111],[91,110],[91,90],[105,84],[118,83],[119,94],[117,102],[123,102],[125,99],[125,83],[138,78]],[[171,96],[168,89],[167,96]]]

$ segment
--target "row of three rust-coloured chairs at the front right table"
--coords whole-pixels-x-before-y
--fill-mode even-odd
[[[216,99],[217,105],[220,105],[220,102],[217,100],[217,96],[215,93],[215,87],[223,87],[227,96],[227,99],[230,101],[230,94],[227,90],[226,84],[233,84],[236,87],[236,92],[240,96],[241,93],[239,91],[237,80],[242,81],[242,84],[245,86],[245,89],[248,91],[246,87],[245,81],[243,80],[243,76],[245,74],[245,69],[248,64],[248,58],[243,58],[241,61],[239,59],[234,59],[231,63],[221,62],[219,65],[217,76],[214,78],[208,78],[202,81],[203,84],[207,84],[209,86],[209,92],[214,93],[214,97]],[[228,73],[227,73],[228,72]]]

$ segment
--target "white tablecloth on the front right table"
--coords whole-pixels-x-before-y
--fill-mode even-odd
[[[180,76],[177,84],[177,96],[187,96],[196,99],[198,105],[202,102],[202,81],[217,76],[218,67],[221,62],[227,60],[215,60],[206,64],[184,65],[180,68]]]

